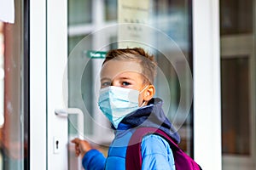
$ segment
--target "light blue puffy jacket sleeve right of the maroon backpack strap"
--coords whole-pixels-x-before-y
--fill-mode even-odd
[[[142,169],[171,169],[175,170],[172,149],[168,142],[159,135],[150,134],[143,138]]]

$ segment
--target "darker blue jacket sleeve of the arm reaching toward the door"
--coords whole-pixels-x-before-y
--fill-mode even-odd
[[[103,170],[106,158],[99,150],[88,151],[82,160],[84,169],[86,170]]]

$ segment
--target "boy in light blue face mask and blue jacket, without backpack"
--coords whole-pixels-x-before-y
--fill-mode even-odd
[[[98,105],[115,130],[115,138],[105,158],[81,139],[73,139],[76,155],[83,157],[85,169],[125,169],[127,145],[136,127],[157,127],[176,143],[179,135],[166,118],[161,99],[154,99],[154,56],[143,48],[114,49],[102,64]],[[159,135],[143,137],[142,169],[175,169],[172,149]]]

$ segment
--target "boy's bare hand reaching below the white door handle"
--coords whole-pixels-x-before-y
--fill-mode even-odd
[[[87,142],[86,140],[76,138],[73,139],[71,142],[75,144],[76,156],[81,155],[82,157],[84,157],[86,152],[92,149],[89,142]]]

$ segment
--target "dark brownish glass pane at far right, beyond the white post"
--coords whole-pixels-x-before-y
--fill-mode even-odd
[[[220,1],[223,169],[255,169],[255,1]]]

